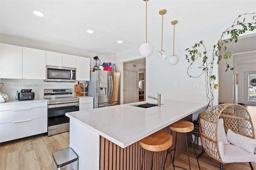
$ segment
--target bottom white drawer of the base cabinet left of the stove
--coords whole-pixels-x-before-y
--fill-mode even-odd
[[[19,123],[0,124],[0,142],[47,132],[47,117]]]

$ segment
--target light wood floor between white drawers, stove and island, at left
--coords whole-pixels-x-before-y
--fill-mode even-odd
[[[52,152],[69,147],[69,132],[0,144],[0,170],[52,170]]]

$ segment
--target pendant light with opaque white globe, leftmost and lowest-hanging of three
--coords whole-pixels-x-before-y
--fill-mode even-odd
[[[149,0],[143,0],[146,1],[146,43],[143,43],[142,45],[140,45],[140,54],[143,57],[149,57],[150,55],[152,55],[154,48],[151,45],[151,43],[147,42],[147,2]]]

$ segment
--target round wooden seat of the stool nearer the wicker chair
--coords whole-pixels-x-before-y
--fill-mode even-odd
[[[170,129],[175,132],[192,132],[194,130],[194,124],[188,121],[178,121],[170,125]]]

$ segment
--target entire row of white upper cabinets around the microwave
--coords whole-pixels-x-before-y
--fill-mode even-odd
[[[90,58],[0,43],[0,78],[45,80],[46,65],[76,68],[77,81],[90,81]]]

